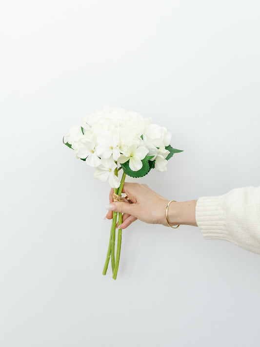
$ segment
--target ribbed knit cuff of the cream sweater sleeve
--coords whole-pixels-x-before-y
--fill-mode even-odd
[[[202,196],[196,204],[196,222],[204,239],[230,241],[226,231],[223,212],[224,195]]]

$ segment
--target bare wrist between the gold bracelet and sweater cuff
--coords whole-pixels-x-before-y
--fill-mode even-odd
[[[168,209],[168,220],[170,225],[184,224],[197,226],[196,203],[197,200],[171,202]]]

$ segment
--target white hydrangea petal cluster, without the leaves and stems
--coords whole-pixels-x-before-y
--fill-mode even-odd
[[[129,160],[129,168],[138,171],[148,155],[155,160],[157,171],[167,170],[169,151],[165,147],[171,133],[138,112],[109,106],[96,109],[81,118],[80,126],[72,127],[66,138],[75,156],[96,167],[94,176],[102,182],[108,179],[113,188],[120,184],[114,173],[117,163]]]

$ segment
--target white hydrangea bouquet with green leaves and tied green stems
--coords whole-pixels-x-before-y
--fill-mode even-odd
[[[171,133],[166,128],[153,124],[151,118],[118,107],[95,110],[63,137],[63,143],[74,150],[76,158],[96,168],[94,177],[101,182],[108,180],[115,196],[119,197],[126,175],[142,177],[151,169],[167,170],[167,161],[174,153],[182,152],[172,148],[170,142]],[[117,219],[119,229],[115,258]],[[122,214],[113,212],[103,275],[111,258],[115,280],[120,259],[121,223]]]

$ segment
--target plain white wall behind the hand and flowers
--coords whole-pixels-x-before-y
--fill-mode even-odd
[[[259,0],[0,2],[2,347],[259,346],[260,256],[137,221],[102,276],[110,188],[62,144],[120,106],[184,150],[160,195],[258,186],[259,62]]]

